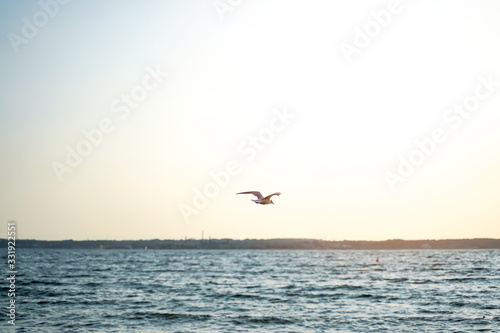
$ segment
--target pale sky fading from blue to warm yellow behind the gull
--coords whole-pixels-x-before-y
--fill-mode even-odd
[[[500,238],[499,10],[2,2],[0,237]]]

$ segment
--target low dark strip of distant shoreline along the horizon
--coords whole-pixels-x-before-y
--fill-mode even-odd
[[[7,247],[7,239],[0,239]],[[441,239],[385,241],[326,241],[318,239],[183,239],[183,240],[59,240],[17,239],[16,247],[39,249],[149,249],[149,250],[417,250],[500,249],[500,239]]]

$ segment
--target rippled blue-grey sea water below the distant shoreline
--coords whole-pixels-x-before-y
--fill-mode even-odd
[[[500,332],[500,250],[16,256],[15,326],[3,278],[0,332]]]

